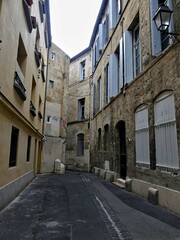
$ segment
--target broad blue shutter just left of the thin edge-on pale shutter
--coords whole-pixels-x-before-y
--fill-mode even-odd
[[[109,97],[118,94],[118,57],[113,53],[109,58]]]

